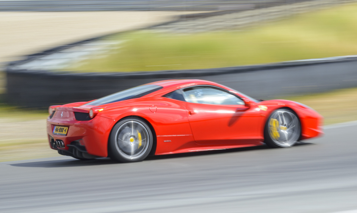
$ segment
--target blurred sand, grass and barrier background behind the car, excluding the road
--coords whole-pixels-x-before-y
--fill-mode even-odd
[[[316,109],[325,124],[357,120],[354,0],[0,0],[0,29],[0,161],[57,156],[45,131],[50,104],[172,76],[211,79],[255,98],[295,100]],[[325,64],[331,60],[342,62]],[[323,64],[306,65],[314,61]],[[288,76],[265,70],[280,62],[285,65],[275,68]],[[242,66],[265,74],[205,77]],[[181,72],[196,69],[202,70]],[[135,76],[162,70],[179,74]],[[72,87],[94,83],[88,73],[98,82],[108,72],[134,76],[93,97],[87,96],[93,88]],[[301,78],[306,73],[314,78]],[[68,75],[75,77],[61,78]],[[63,88],[51,90],[48,76]]]

